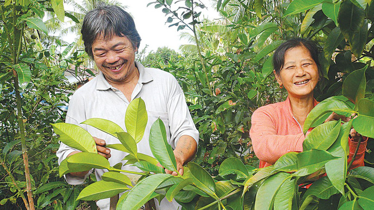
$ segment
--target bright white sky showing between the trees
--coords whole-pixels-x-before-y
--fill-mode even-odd
[[[212,7],[212,0],[200,1],[207,7],[206,9],[200,10],[202,11],[201,18],[204,17],[211,20],[219,18],[218,12]],[[148,3],[154,1],[122,0],[118,2],[127,6],[126,11],[134,18],[135,26],[142,39],[139,52],[146,47],[146,45],[148,45],[146,52],[149,53],[150,51],[156,51],[157,48],[164,46],[178,51],[180,45],[189,44],[187,40],[180,39],[180,33],[182,31],[189,32],[190,30],[184,29],[177,31],[176,26],[169,28],[170,24],[165,25],[168,17],[162,12],[162,8],[155,9],[155,4],[147,7]],[[64,37],[64,40],[71,43],[74,40],[74,36],[68,35]]]

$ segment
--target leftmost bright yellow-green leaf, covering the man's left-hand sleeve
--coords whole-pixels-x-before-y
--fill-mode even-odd
[[[60,122],[52,126],[61,142],[82,152],[97,153],[95,140],[79,125]]]

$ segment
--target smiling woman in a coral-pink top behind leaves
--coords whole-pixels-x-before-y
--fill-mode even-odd
[[[302,128],[306,116],[318,103],[313,90],[321,78],[321,66],[313,41],[302,38],[285,41],[275,51],[273,65],[279,87],[287,90],[288,97],[283,102],[260,107],[252,115],[250,135],[255,154],[260,159],[259,167],[274,164],[285,153],[303,151],[305,136]],[[349,120],[333,113],[326,121],[338,119]],[[352,129],[350,135],[348,161],[355,153],[360,134]],[[364,137],[351,169],[364,165],[366,143],[367,137]]]

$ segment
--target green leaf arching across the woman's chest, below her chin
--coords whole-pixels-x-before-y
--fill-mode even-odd
[[[344,96],[333,96],[321,101],[306,117],[303,132],[306,133],[310,127],[317,127],[317,125],[323,123],[327,119],[328,113],[335,111],[338,114],[343,114],[339,113],[339,111],[348,112],[352,110],[351,106],[353,104]]]

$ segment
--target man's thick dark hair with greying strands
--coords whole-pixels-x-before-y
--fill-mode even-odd
[[[140,36],[135,28],[134,19],[122,8],[114,5],[98,4],[89,11],[80,30],[85,43],[85,51],[93,59],[92,44],[102,35],[111,38],[114,34],[130,39],[133,48],[139,48]]]

